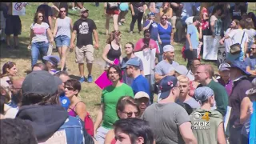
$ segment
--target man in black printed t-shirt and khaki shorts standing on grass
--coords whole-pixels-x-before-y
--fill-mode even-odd
[[[98,33],[96,31],[97,27],[93,20],[87,18],[89,15],[89,10],[85,8],[81,10],[81,18],[74,22],[73,33],[71,36],[70,50],[74,49],[74,40],[77,36],[77,46],[75,47],[75,58],[78,63],[78,68],[80,72],[79,82],[85,81],[84,76],[84,59],[86,58],[88,78],[87,82],[93,82],[91,76],[93,61],[94,61],[94,48],[98,49]],[[93,37],[95,45],[93,46]]]

